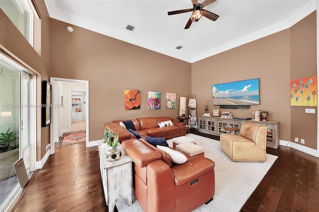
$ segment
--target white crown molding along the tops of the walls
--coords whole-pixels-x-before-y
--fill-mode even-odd
[[[88,30],[91,30],[91,31],[94,31],[94,32],[97,32],[100,34],[104,34],[104,35],[107,35],[109,37],[112,37],[112,38],[115,38],[118,40],[122,40],[124,42],[128,42],[130,44],[137,45],[137,46],[158,52],[160,54],[164,54],[164,55],[167,55],[169,57],[173,57],[173,58],[176,58],[176,59],[179,59],[182,61],[186,61],[189,63],[197,62],[199,60],[211,57],[211,56],[219,54],[221,52],[230,50],[232,48],[244,45],[244,44],[252,42],[254,40],[257,40],[257,39],[266,37],[268,35],[274,34],[276,32],[290,28],[291,26],[296,24],[298,21],[302,20],[307,15],[309,15],[310,13],[315,11],[319,5],[319,3],[318,3],[319,0],[313,0],[313,1],[309,2],[307,5],[305,5],[304,7],[302,7],[301,9],[299,9],[295,14],[290,16],[285,21],[276,23],[272,26],[269,26],[269,27],[264,28],[262,30],[251,33],[247,36],[244,36],[242,38],[239,38],[237,40],[229,42],[225,45],[222,45],[222,46],[214,48],[210,51],[204,52],[198,56],[193,56],[193,55],[183,54],[183,52],[181,52],[175,48],[172,48],[172,49],[163,48],[160,45],[155,45],[154,43],[146,42],[145,40],[139,39],[137,37],[131,36],[127,33],[123,33],[123,32],[118,31],[118,30],[111,29],[111,28],[106,27],[102,24],[98,24],[94,21],[90,21],[86,18],[64,12],[63,10],[60,10],[59,8],[56,7],[55,1],[44,0],[44,2],[45,2],[45,5],[47,7],[49,16],[51,18],[54,18],[54,19],[57,19],[57,20],[60,20],[60,21],[66,22],[66,23],[70,23],[72,25],[79,26],[79,27],[82,27],[82,28],[85,28],[85,29],[88,29]]]

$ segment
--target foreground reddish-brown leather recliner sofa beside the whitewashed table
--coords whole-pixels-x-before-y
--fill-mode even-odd
[[[190,212],[215,194],[215,163],[192,157],[171,164],[169,156],[144,139],[128,139],[122,148],[133,163],[134,194],[144,212]]]

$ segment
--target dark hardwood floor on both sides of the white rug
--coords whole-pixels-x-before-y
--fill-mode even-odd
[[[219,140],[195,129],[190,133]],[[241,212],[318,212],[319,158],[284,146],[267,148],[267,153],[278,159]],[[12,211],[108,211],[98,152],[85,143],[56,147],[23,192]]]

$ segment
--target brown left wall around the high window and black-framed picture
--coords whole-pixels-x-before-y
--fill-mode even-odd
[[[27,66],[31,67],[37,75],[37,94],[36,104],[41,104],[41,81],[49,81],[49,39],[50,39],[50,18],[47,13],[44,1],[37,1],[37,6],[41,13],[41,21],[36,29],[40,32],[41,42],[35,42],[40,45],[38,51],[26,41],[18,29],[12,24],[5,13],[0,9],[0,48],[6,54],[13,54],[17,60],[23,61]],[[36,160],[39,161],[45,155],[45,146],[50,143],[50,127],[41,127],[41,110],[37,108],[37,138],[36,138]]]

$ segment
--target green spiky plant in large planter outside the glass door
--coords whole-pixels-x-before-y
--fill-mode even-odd
[[[15,174],[11,171],[12,165],[19,159],[19,143],[16,142],[18,132],[10,131],[0,133],[0,180],[7,179]]]

